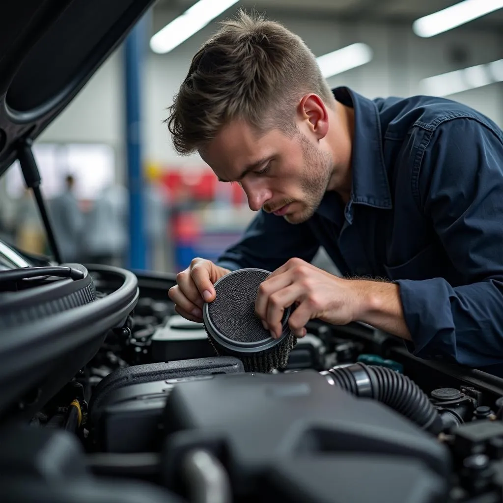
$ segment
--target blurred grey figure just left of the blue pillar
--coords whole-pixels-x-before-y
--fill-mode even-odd
[[[128,246],[128,194],[120,184],[105,187],[86,219],[86,262],[123,266]]]

